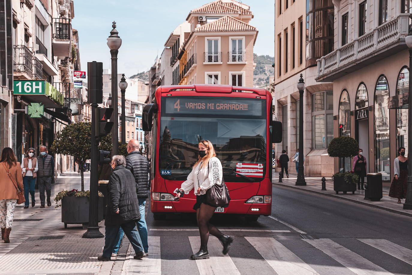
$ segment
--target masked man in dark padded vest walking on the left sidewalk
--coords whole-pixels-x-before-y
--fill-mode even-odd
[[[47,194],[47,206],[52,206],[50,195],[52,193],[52,181],[54,176],[54,159],[47,153],[47,147],[40,146],[40,155],[37,157],[39,170],[37,171],[37,183],[40,191],[40,208],[44,208],[45,197],[44,190]]]

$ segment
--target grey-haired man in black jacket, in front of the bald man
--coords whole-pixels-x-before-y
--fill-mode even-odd
[[[140,219],[139,204],[136,197],[136,183],[131,172],[126,169],[126,159],[122,155],[115,155],[110,165],[113,172],[110,175],[107,195],[105,218],[105,246],[99,261],[110,261],[112,251],[117,244],[117,235],[122,228],[129,239],[136,256],[142,259],[146,256],[142,241],[136,229],[136,221]]]

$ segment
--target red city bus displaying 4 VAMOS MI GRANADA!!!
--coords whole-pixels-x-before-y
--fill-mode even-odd
[[[197,161],[199,141],[213,143],[230,193],[227,208],[251,221],[272,209],[272,142],[281,142],[281,122],[272,121],[272,95],[265,89],[229,85],[160,86],[143,109],[151,134],[151,211],[195,212],[194,191],[173,201]],[[273,131],[271,132],[271,128]]]

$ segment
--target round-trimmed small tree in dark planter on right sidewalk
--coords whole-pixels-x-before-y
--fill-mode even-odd
[[[340,157],[343,159],[343,169],[345,169],[345,157],[354,157],[358,154],[359,144],[358,141],[350,136],[339,136],[332,139],[328,146],[328,155],[330,157]],[[356,190],[356,182],[358,181],[358,175],[353,171],[343,170],[342,173],[335,173],[332,176],[333,187],[336,193],[343,191],[346,194],[347,191],[351,191],[353,194]],[[348,184],[349,183],[349,184]]]

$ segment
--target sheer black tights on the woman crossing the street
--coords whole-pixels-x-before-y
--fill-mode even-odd
[[[215,213],[215,207],[201,203],[200,208],[196,210],[197,225],[200,232],[200,245],[205,246],[209,240],[209,233],[220,238],[223,234],[213,224],[209,223],[210,219]]]

